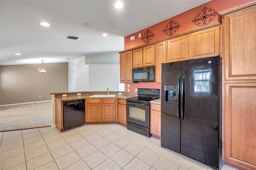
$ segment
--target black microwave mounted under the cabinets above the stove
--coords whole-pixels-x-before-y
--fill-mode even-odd
[[[132,69],[132,81],[155,81],[155,66]]]

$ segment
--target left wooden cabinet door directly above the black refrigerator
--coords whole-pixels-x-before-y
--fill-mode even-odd
[[[167,40],[166,63],[189,59],[189,35]]]

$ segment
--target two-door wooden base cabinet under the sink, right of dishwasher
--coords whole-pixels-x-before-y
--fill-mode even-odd
[[[86,99],[86,123],[116,122],[116,99]]]

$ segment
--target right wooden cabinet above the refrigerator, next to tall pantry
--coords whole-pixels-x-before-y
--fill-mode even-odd
[[[191,35],[192,59],[220,55],[220,26],[194,32]]]

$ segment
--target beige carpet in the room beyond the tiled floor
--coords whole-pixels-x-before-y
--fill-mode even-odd
[[[0,132],[52,125],[52,101],[0,107]]]

